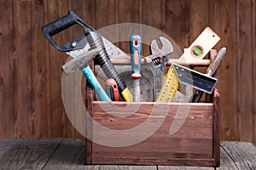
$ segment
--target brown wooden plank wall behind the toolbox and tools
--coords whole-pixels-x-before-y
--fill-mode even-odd
[[[256,143],[255,0],[0,0],[0,9],[0,139],[82,138],[61,100],[67,55],[41,32],[73,10],[96,29],[123,22],[154,26],[182,49],[210,26],[222,38],[216,48],[228,50],[219,70],[221,139]],[[67,31],[56,42],[75,34]],[[128,43],[119,47],[128,52]]]

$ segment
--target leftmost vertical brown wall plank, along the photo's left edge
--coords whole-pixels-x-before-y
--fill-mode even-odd
[[[13,55],[13,2],[0,1],[0,140],[14,138],[14,55]]]

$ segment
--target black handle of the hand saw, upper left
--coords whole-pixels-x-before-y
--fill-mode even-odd
[[[48,39],[48,41],[55,49],[63,52],[73,51],[75,49],[84,48],[84,46],[86,45],[86,38],[84,37],[84,34],[75,38],[71,42],[67,42],[67,44],[63,46],[58,46],[56,42],[52,39],[52,36],[76,24],[79,24],[79,26],[83,26],[84,32],[95,31],[91,26],[87,25],[84,20],[81,20],[79,16],[73,11],[69,11],[67,15],[49,23],[46,26],[43,26],[42,31],[44,33],[44,36]]]

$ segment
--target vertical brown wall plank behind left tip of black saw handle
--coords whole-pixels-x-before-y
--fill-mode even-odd
[[[32,112],[35,137],[50,137],[49,60],[45,53],[44,2],[32,1]],[[42,45],[43,44],[43,45]]]

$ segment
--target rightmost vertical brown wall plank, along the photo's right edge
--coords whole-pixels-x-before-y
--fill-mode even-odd
[[[238,1],[237,18],[237,116],[240,139],[253,141],[253,36],[252,4],[250,0]],[[249,48],[248,48],[249,47]]]

